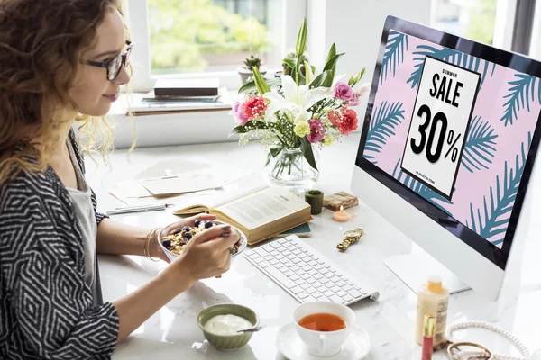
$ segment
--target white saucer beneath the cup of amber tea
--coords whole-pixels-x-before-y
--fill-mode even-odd
[[[295,323],[290,322],[278,331],[276,347],[291,360],[359,360],[370,351],[370,338],[366,331],[353,328],[340,351],[335,356],[314,356],[298,336]]]

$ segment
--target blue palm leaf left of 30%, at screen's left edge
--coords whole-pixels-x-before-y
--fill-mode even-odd
[[[380,108],[377,107],[372,112],[374,114],[370,123],[370,129],[366,135],[366,145],[364,146],[364,157],[377,164],[373,155],[366,154],[366,151],[379,153],[383,145],[387,143],[387,139],[393,136],[394,129],[399,123],[404,120],[403,103],[381,103]]]

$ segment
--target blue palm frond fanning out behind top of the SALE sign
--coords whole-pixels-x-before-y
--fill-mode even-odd
[[[491,65],[489,61],[481,60],[481,58],[475,58],[472,55],[464,54],[463,52],[454,49],[436,49],[429,45],[417,45],[417,51],[414,51],[413,55],[417,55],[417,58],[413,58],[414,61],[417,61],[417,64],[415,65],[415,70],[413,70],[411,76],[408,78],[408,83],[411,83],[412,89],[416,88],[419,85],[419,81],[421,81],[426,55],[439,58],[440,60],[444,60],[459,67],[465,67],[475,71],[476,73],[480,72],[482,61],[484,65],[482,66],[481,85],[479,86],[480,90]],[[491,77],[494,75],[495,68],[496,64],[492,64]]]

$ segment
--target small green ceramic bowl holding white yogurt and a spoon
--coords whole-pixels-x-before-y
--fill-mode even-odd
[[[210,320],[216,315],[233,314],[243,317],[244,319],[252,322],[253,326],[259,325],[259,318],[256,313],[243,305],[237,305],[234,303],[218,304],[206,308],[199,312],[197,315],[197,325],[203,330],[205,338],[209,343],[222,350],[234,350],[243,347],[252,338],[252,332],[239,333],[236,335],[216,335],[206,331],[206,321]]]

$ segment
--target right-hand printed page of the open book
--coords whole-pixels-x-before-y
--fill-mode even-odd
[[[216,208],[247,229],[255,229],[307,208],[307,202],[281,187],[269,187]]]

